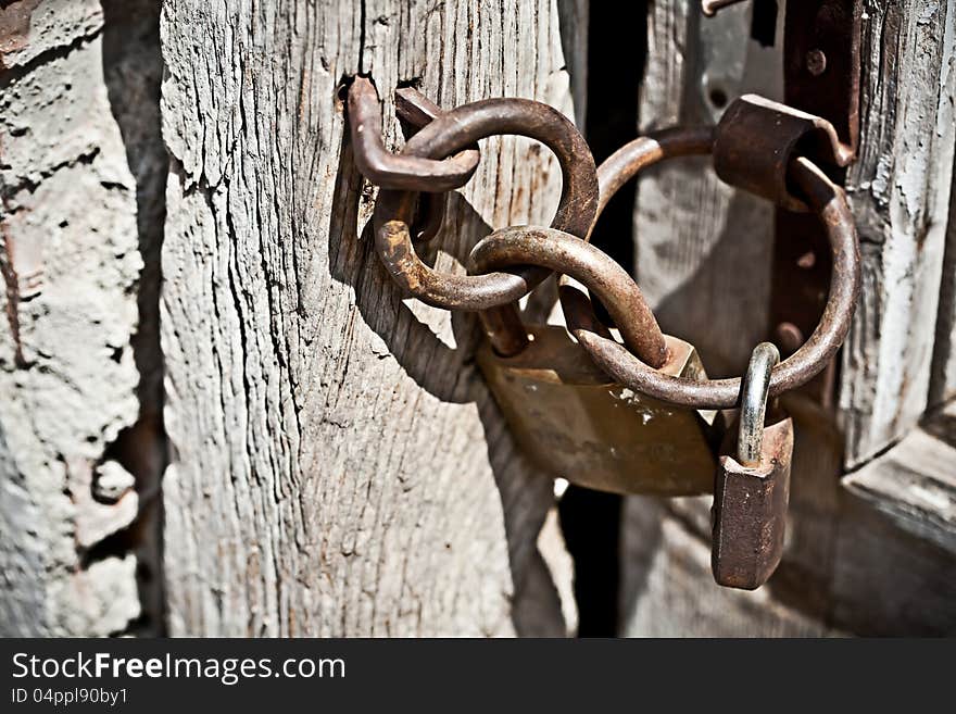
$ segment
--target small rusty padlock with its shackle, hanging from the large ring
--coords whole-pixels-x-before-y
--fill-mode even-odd
[[[720,456],[714,484],[710,566],[717,584],[731,588],[760,587],[783,554],[793,421],[776,409],[769,418],[766,413],[770,371],[779,361],[770,342],[754,349],[740,400],[737,458]],[[725,440],[722,451],[729,446]]]

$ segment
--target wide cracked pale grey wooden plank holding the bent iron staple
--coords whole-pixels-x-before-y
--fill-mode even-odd
[[[474,321],[402,301],[372,253],[337,99],[372,73],[392,146],[399,82],[569,112],[554,2],[171,0],[163,33],[172,631],[564,634],[556,597],[523,616],[554,592],[536,548],[551,481],[469,362]],[[441,270],[555,205],[546,152],[482,150]]]

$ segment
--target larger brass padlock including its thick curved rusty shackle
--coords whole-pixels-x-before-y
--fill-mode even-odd
[[[482,240],[471,258],[479,271],[536,264],[571,275],[601,297],[619,326],[637,312],[650,315],[630,276],[599,253],[562,231],[512,227]],[[653,330],[666,346],[666,360],[657,367],[662,373],[706,378],[691,345],[662,336],[656,322]],[[525,331],[530,341],[517,354],[502,356],[486,342],[477,361],[512,434],[539,467],[616,493],[710,492],[713,447],[722,436],[719,413],[675,406],[616,384],[563,326]]]

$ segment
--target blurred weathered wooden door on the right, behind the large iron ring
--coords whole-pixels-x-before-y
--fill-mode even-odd
[[[953,469],[945,465],[949,447],[914,427],[928,404],[953,391],[954,234],[951,226],[947,249],[946,220],[956,9],[864,4],[863,148],[848,193],[865,278],[843,353],[839,423],[805,400],[789,402],[796,447],[788,546],[778,573],[757,592],[714,585],[709,498],[629,499],[626,634],[953,631],[954,559],[944,546],[952,543],[956,502],[944,475]],[[729,99],[734,89],[780,96],[779,78],[772,80],[779,47],[749,41],[747,8],[725,10],[725,24],[714,28],[697,5],[650,3],[642,129],[706,118],[715,82],[730,88]],[[735,25],[731,13],[740,13]],[[720,33],[735,37],[737,54],[708,47]],[[708,371],[720,375],[739,373],[766,335],[772,216],[768,205],[720,186],[705,164],[662,166],[640,184],[637,274],[662,325],[694,342]],[[841,466],[861,464],[844,489]]]

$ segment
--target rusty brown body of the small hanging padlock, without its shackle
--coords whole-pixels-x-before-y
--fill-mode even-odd
[[[731,428],[728,436],[735,434]],[[760,463],[741,464],[725,439],[714,484],[712,569],[718,585],[755,590],[780,564],[790,502],[793,421],[778,414],[764,427]]]

